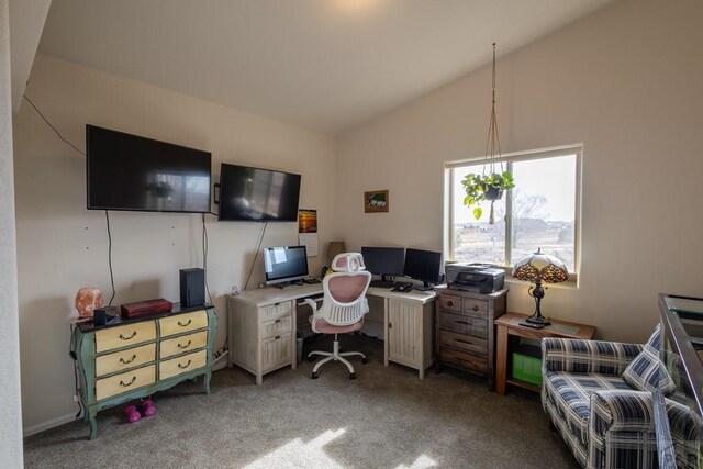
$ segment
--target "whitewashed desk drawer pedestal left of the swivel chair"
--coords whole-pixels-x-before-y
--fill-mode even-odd
[[[286,366],[295,368],[293,337],[295,300],[257,305],[243,297],[227,295],[228,365],[256,376]]]

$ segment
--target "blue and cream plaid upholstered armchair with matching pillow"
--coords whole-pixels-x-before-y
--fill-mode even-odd
[[[647,344],[545,338],[542,405],[588,468],[657,468],[651,390],[676,390],[659,360],[659,326]],[[676,395],[672,398],[676,399]],[[679,468],[696,467],[696,428],[685,405],[666,399]]]

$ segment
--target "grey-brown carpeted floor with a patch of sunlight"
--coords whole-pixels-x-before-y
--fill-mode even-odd
[[[346,347],[345,347],[346,345]],[[26,438],[27,468],[577,468],[549,431],[539,397],[489,392],[486,380],[457,370],[424,380],[383,367],[382,343],[342,337],[361,350],[357,380],[342,364],[310,379],[313,364],[254,377],[238,368],[157,393],[157,414],[130,424],[122,406],[98,414],[98,438],[74,422]],[[319,338],[309,349],[331,349]]]

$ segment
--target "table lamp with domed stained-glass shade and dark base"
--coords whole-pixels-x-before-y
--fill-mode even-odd
[[[527,294],[535,299],[535,312],[521,324],[532,327],[542,327],[551,324],[542,315],[542,311],[539,310],[539,302],[545,297],[545,289],[542,288],[542,282],[560,283],[567,281],[569,279],[569,271],[567,270],[566,264],[555,256],[543,254],[542,248],[538,248],[536,253],[528,254],[515,263],[513,277],[517,280],[535,283],[527,290]]]

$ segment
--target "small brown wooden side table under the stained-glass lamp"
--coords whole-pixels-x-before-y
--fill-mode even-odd
[[[549,320],[551,321],[551,325],[543,328],[521,326],[520,323],[526,317],[527,314],[506,313],[495,320],[495,326],[498,327],[495,392],[500,395],[505,395],[506,384],[513,384],[539,392],[539,387],[514,378],[509,378],[507,354],[510,351],[510,336],[534,338],[537,340],[542,340],[545,337],[581,338],[588,340],[593,338],[593,335],[595,334],[594,326],[551,319]]]

